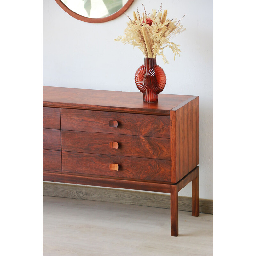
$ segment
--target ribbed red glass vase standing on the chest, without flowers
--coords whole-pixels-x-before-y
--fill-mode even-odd
[[[163,68],[156,65],[156,58],[144,58],[144,65],[135,73],[135,84],[143,92],[144,102],[158,101],[158,93],[164,90],[166,76]]]

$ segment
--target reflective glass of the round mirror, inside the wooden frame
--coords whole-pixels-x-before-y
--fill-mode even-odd
[[[61,0],[71,11],[88,18],[104,18],[119,11],[128,0]]]

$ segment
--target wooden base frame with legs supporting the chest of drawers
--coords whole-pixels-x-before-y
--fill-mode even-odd
[[[43,180],[79,185],[136,189],[170,193],[171,236],[178,236],[178,192],[192,181],[192,216],[199,216],[199,167],[197,166],[177,183],[156,183],[141,180],[122,180],[106,177],[74,175],[62,172],[43,171]]]

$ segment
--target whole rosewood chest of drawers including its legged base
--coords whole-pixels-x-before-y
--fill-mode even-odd
[[[170,193],[192,181],[199,215],[198,96],[43,86],[43,180]]]

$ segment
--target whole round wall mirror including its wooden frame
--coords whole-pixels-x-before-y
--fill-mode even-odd
[[[55,0],[77,20],[101,23],[114,20],[124,13],[134,0]]]

